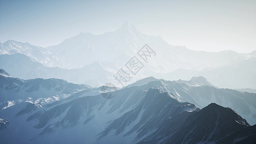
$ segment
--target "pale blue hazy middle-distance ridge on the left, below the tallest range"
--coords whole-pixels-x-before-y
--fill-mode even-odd
[[[86,84],[98,87],[105,83],[114,83],[114,70],[118,71],[113,63],[94,62],[80,69],[61,69],[45,67],[43,64],[31,60],[24,54],[0,55],[0,69],[8,71],[13,77],[21,79],[58,78],[75,84]]]

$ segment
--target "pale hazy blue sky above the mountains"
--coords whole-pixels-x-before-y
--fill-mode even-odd
[[[256,0],[0,0],[0,42],[52,46],[80,32],[103,34],[125,21],[171,45],[256,50]]]

